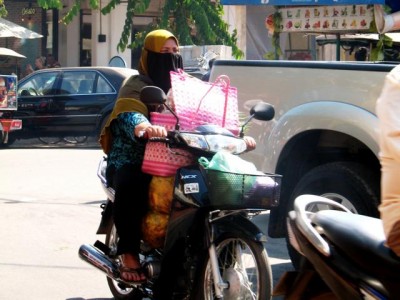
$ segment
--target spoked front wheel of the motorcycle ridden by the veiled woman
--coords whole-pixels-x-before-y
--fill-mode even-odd
[[[228,283],[224,299],[265,300],[271,298],[272,272],[262,243],[236,234],[224,234],[216,241],[219,272]],[[201,276],[194,291],[196,300],[216,299],[214,277],[209,256],[201,268]]]

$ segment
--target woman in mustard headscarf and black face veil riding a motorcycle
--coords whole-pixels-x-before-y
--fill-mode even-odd
[[[170,71],[183,68],[177,38],[158,29],[147,34],[139,61],[139,75],[128,78],[118,94],[111,116],[103,128],[100,145],[107,154],[107,181],[115,190],[113,218],[119,236],[117,253],[121,257],[120,276],[127,282],[143,282],[146,276],[138,257],[141,223],[148,210],[151,175],[141,171],[144,157],[144,134],[164,137],[162,126],[152,125],[147,107],[140,101],[140,91],[156,85],[165,93],[171,88]]]

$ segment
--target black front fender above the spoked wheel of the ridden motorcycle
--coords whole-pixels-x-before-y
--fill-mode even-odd
[[[213,224],[215,237],[229,232],[238,236],[247,236],[256,242],[265,243],[267,236],[248,218],[241,215],[222,218]]]

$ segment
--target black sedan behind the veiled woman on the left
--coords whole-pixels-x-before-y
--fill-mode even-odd
[[[99,135],[122,82],[136,70],[66,67],[33,72],[18,83],[22,130],[14,139]]]

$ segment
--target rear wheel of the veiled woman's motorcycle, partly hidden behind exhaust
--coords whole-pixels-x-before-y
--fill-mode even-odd
[[[106,234],[106,245],[111,249],[111,253],[116,253],[118,242],[118,234],[115,225],[109,226]],[[110,277],[107,277],[108,287],[114,296],[115,300],[142,300],[144,299],[143,293],[133,287],[125,286]]]

